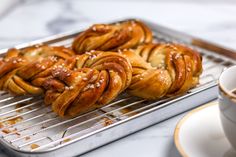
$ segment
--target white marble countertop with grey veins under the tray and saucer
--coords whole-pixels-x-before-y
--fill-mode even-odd
[[[12,3],[6,12],[0,12],[0,48],[91,23],[138,17],[236,49],[236,3],[233,0],[15,1],[17,3]],[[179,157],[173,131],[183,115],[88,152],[83,157]],[[5,155],[0,153],[0,156]]]

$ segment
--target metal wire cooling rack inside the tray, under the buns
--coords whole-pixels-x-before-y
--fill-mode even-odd
[[[71,36],[73,37],[73,36]],[[168,37],[161,33],[155,34],[158,42],[183,41]],[[52,43],[68,45],[71,38]],[[203,74],[200,83],[184,95],[150,101],[121,94],[112,103],[85,113],[72,119],[63,119],[52,112],[40,97],[12,96],[7,92],[0,93],[0,136],[8,146],[25,152],[52,151],[78,142],[80,139],[95,134],[101,129],[114,127],[127,119],[145,113],[153,108],[161,108],[175,103],[186,96],[204,91],[215,85],[224,68],[235,63],[227,58],[213,55],[207,50],[188,45],[197,49],[203,56]]]

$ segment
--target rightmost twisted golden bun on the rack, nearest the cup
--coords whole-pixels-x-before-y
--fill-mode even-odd
[[[179,44],[147,44],[123,51],[133,67],[132,95],[156,99],[177,95],[196,86],[202,72],[201,56]]]

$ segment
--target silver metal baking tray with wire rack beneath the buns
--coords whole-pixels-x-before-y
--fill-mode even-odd
[[[56,116],[40,97],[15,97],[1,92],[0,144],[4,151],[25,157],[76,156],[215,99],[217,79],[224,68],[236,63],[236,53],[142,21],[152,29],[157,42],[182,43],[202,54],[204,70],[197,87],[184,95],[156,101],[123,93],[112,103],[73,119]],[[70,46],[81,31],[21,44],[16,48],[38,43]],[[4,55],[6,50],[0,50],[0,53]]]

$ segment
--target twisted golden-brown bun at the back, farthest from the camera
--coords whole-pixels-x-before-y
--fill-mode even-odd
[[[135,48],[150,42],[152,42],[151,30],[142,22],[132,20],[110,25],[93,25],[78,35],[72,47],[80,54],[91,50],[116,51]]]

